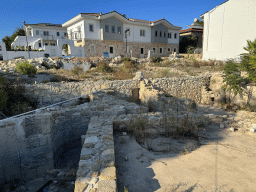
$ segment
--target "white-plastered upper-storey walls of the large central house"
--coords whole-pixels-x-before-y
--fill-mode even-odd
[[[161,19],[157,22],[150,22],[150,21],[142,21],[142,20],[134,20],[128,19],[123,15],[113,11],[106,14],[79,14],[76,17],[70,19],[69,21],[65,22],[62,26],[67,27],[68,35],[70,37],[71,30],[77,31],[77,26],[80,26],[82,31],[82,38],[86,40],[103,40],[103,30],[100,29],[100,21],[107,19],[109,17],[115,17],[122,21],[123,23],[123,34],[125,34],[125,30],[127,28],[130,29],[130,35],[127,36],[127,42],[134,42],[134,43],[152,43],[151,36],[151,28],[165,23],[165,26],[169,28],[169,30],[173,33],[172,39],[168,39],[168,44],[179,44],[179,30],[181,27],[173,26],[165,19]],[[89,25],[93,25],[93,32],[89,30]],[[143,35],[141,35],[141,30],[144,30]],[[174,34],[177,34],[177,38],[174,39]],[[74,36],[72,36],[74,39]],[[123,41],[126,41],[125,35],[123,35]]]

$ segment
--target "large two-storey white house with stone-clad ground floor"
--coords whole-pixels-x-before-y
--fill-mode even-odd
[[[149,50],[159,56],[169,56],[179,50],[179,30],[165,19],[145,21],[127,18],[126,15],[112,11],[102,13],[80,13],[65,22],[68,38],[76,46],[84,47],[85,56],[110,57],[126,55],[145,57]]]

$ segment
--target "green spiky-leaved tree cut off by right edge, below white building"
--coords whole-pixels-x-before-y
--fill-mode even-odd
[[[248,53],[242,54],[241,69],[247,72],[247,78],[256,82],[256,39],[247,41],[247,47],[244,47]]]

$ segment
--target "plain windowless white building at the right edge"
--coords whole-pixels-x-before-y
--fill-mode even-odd
[[[246,40],[256,38],[256,1],[228,0],[201,15],[203,59],[239,59]]]

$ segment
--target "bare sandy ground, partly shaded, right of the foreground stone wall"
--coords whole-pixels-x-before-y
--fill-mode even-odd
[[[199,112],[225,114],[208,106]],[[149,152],[134,138],[116,135],[118,191],[255,192],[256,139],[242,129],[221,129],[220,123],[201,129],[199,148],[187,153]]]

